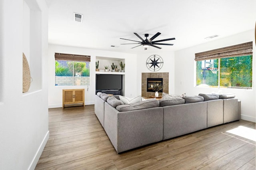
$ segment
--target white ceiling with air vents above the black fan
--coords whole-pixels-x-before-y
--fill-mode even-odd
[[[49,7],[49,43],[144,53],[173,51],[252,30],[256,21],[256,0],[46,0]],[[74,21],[74,12],[83,22]],[[173,46],[162,49],[142,46],[143,39],[162,33],[155,40],[175,37]],[[205,40],[213,35],[218,38]],[[135,42],[136,43],[136,42]],[[119,47],[111,47],[116,45]]]

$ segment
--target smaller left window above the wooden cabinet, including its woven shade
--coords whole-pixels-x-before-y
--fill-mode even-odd
[[[90,85],[90,56],[55,53],[55,85]]]

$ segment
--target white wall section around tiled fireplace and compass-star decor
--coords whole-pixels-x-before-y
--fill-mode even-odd
[[[163,59],[163,67],[159,71],[150,71],[146,66],[146,61],[150,55],[160,55]],[[169,94],[174,94],[174,66],[175,58],[174,51],[162,52],[159,50],[158,53],[140,53],[137,58],[138,63],[138,75],[137,75],[137,89],[138,95],[141,95],[141,73],[169,73]]]

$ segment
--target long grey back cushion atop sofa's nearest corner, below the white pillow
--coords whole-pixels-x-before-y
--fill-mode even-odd
[[[141,101],[138,103],[132,103],[130,105],[119,105],[116,107],[116,109],[120,112],[124,111],[134,111],[134,110],[140,110],[140,109],[148,109],[152,107],[159,107],[159,101],[156,99],[149,99],[145,101]]]

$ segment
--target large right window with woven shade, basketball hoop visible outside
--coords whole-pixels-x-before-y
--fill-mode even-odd
[[[252,89],[252,42],[196,53],[195,60],[196,86]]]

